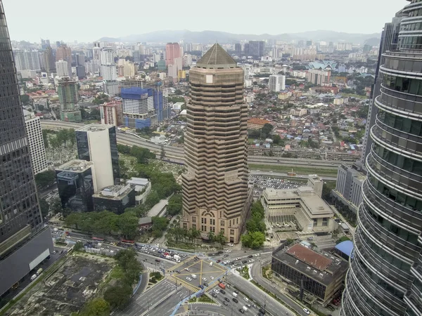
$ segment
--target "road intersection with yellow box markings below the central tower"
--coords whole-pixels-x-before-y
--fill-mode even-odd
[[[212,264],[211,264],[212,263]],[[218,284],[217,279],[221,278],[226,269],[217,263],[192,257],[175,268],[172,278],[177,283],[181,283],[190,291],[199,291],[201,286],[211,288]]]

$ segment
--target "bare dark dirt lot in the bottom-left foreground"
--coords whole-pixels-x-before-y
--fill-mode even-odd
[[[97,293],[114,265],[112,258],[75,254],[30,289],[6,315],[64,316],[77,312]]]

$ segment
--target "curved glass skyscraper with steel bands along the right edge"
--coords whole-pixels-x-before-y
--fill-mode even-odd
[[[422,315],[422,2],[385,51],[340,315]]]

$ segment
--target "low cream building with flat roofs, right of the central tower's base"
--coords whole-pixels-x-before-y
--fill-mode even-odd
[[[269,223],[293,221],[298,230],[328,234],[334,230],[333,211],[312,187],[272,189],[262,192],[261,203]]]

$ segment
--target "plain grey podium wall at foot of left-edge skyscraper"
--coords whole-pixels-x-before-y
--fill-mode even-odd
[[[54,250],[50,228],[46,228],[11,254],[11,256],[1,260],[0,295],[4,294],[16,282],[28,275],[31,272],[30,263],[47,249],[49,249],[50,254]]]

